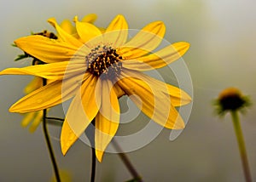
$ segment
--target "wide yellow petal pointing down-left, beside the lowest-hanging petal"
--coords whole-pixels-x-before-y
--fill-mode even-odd
[[[61,129],[61,151],[63,155],[73,145],[73,143],[84,133],[85,128],[100,108],[101,94],[100,87],[96,87],[97,78],[90,75],[81,86],[74,97],[65,122]],[[97,99],[96,99],[97,98]]]

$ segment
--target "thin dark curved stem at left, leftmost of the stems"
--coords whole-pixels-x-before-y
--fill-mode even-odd
[[[46,79],[43,79],[43,84],[46,85]],[[48,151],[49,151],[49,156],[50,156],[50,159],[51,159],[51,163],[52,163],[53,168],[54,168],[56,181],[57,181],[57,182],[61,182],[61,178],[60,178],[60,174],[59,174],[57,162],[56,162],[56,160],[55,160],[55,154],[54,154],[52,145],[50,144],[50,140],[49,140],[49,133],[48,133],[48,129],[47,129],[46,118],[47,118],[47,110],[44,109],[44,111],[43,111],[43,130],[44,130],[44,137],[45,137],[46,145],[47,145],[47,147],[48,147]]]

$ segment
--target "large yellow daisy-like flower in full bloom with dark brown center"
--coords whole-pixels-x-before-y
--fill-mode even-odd
[[[119,128],[119,100],[127,94],[154,122],[165,128],[184,128],[175,107],[190,102],[188,94],[141,71],[163,67],[179,59],[189,43],[173,43],[151,54],[165,34],[165,25],[155,21],[127,41],[128,25],[117,15],[104,33],[75,17],[79,39],[49,19],[58,40],[41,36],[21,37],[15,44],[48,64],[9,68],[0,74],[34,75],[55,80],[17,101],[11,112],[40,111],[73,98],[61,130],[65,155],[95,118],[98,161]]]

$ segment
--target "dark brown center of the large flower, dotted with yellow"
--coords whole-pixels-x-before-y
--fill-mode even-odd
[[[122,56],[116,53],[116,49],[107,46],[97,46],[85,56],[87,71],[96,77],[112,79],[122,70]]]

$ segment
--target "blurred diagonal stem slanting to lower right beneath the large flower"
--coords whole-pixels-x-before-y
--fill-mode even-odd
[[[138,182],[143,182],[143,179],[141,179],[140,175],[137,173],[137,170],[133,167],[128,156],[125,155],[125,153],[122,151],[119,144],[114,139],[112,139],[112,144],[113,144],[113,147],[115,148],[115,150],[118,152],[119,157],[124,162],[126,168],[131,173],[133,179],[136,179]]]

